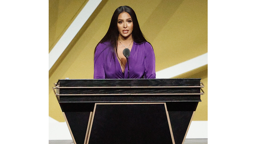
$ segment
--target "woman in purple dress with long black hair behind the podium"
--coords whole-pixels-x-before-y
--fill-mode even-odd
[[[127,79],[125,48],[130,50],[129,78],[156,78],[155,54],[140,30],[136,14],[131,7],[120,6],[94,50],[94,79]]]

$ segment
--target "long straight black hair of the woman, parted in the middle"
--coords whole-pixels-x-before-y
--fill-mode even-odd
[[[118,40],[118,36],[119,36],[119,31],[118,31],[118,28],[117,28],[117,20],[118,20],[119,14],[123,13],[123,12],[127,12],[132,18],[132,22],[133,22],[132,38],[133,38],[133,41],[138,43],[138,44],[141,44],[143,42],[147,42],[147,40],[145,39],[144,35],[142,34],[142,32],[140,30],[140,26],[139,26],[137,16],[136,16],[134,10],[129,6],[120,6],[115,10],[115,12],[114,12],[114,14],[111,18],[110,25],[109,25],[109,28],[108,28],[108,31],[107,31],[106,35],[98,43],[98,44],[100,44],[100,43],[107,42],[107,41],[110,42],[111,47],[113,47],[113,50],[116,52],[116,54],[117,54],[117,40]],[[98,44],[97,44],[97,46],[98,46]],[[94,50],[94,54],[95,54],[95,51],[96,51],[96,47],[95,47],[95,50]]]

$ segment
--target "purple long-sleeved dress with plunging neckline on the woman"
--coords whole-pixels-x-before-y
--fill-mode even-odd
[[[114,55],[114,56],[113,56]],[[129,56],[130,79],[155,79],[155,54],[151,44],[133,42]],[[110,42],[100,43],[96,47],[94,56],[94,79],[127,79],[128,65],[122,72],[120,63],[115,55]]]

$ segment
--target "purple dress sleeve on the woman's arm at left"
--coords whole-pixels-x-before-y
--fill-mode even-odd
[[[104,70],[104,47],[103,44],[99,44],[96,47],[94,54],[94,79],[105,79],[105,70]]]

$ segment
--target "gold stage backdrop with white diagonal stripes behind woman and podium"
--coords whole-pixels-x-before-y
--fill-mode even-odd
[[[153,46],[157,78],[202,78],[205,94],[193,123],[204,123],[199,129],[207,138],[207,0],[49,0],[49,139],[62,139],[51,135],[50,123],[65,122],[53,83],[93,79],[95,46],[106,34],[115,9],[123,5],[133,8]],[[70,35],[74,37],[67,38]]]

